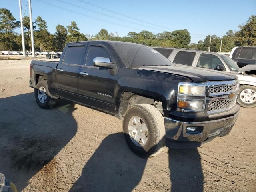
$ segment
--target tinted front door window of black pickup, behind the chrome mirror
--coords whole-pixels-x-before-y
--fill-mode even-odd
[[[110,59],[110,53],[106,48],[97,45],[91,45],[86,58],[86,66],[93,66],[95,57],[106,57]],[[111,60],[111,59],[110,59]]]

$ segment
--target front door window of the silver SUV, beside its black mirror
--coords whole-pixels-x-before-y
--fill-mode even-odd
[[[200,58],[197,62],[198,67],[209,69],[215,69],[217,65],[222,65],[225,68],[225,66],[222,64],[221,60],[217,56],[205,53],[202,53],[200,55]]]

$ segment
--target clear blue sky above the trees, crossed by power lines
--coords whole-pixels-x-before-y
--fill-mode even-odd
[[[82,1],[144,22],[91,6]],[[26,3],[27,0],[22,0],[23,14]],[[256,14],[256,0],[31,0],[31,4],[33,21],[37,16],[41,16],[46,20],[50,33],[55,32],[57,24],[68,26],[71,21],[76,21],[78,28],[84,34],[95,35],[100,29],[105,28],[109,33],[118,32],[119,36],[126,36],[129,32],[130,20],[131,31],[134,32],[148,30],[157,34],[164,30],[188,29],[192,37],[191,42],[194,43],[204,40],[208,34],[222,36],[230,29],[237,31],[239,24],[245,23],[249,16]],[[0,8],[9,9],[19,20],[18,0],[1,0]],[[27,7],[25,15],[28,16],[28,13]],[[20,33],[20,29],[16,32]]]

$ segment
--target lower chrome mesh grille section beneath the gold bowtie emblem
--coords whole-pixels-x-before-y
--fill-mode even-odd
[[[208,112],[217,112],[219,110],[228,110],[236,104],[237,95],[232,99],[222,99],[222,100],[213,100],[209,101]]]

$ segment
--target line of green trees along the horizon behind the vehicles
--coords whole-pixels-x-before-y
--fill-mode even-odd
[[[31,51],[30,38],[30,20],[24,16],[24,37],[26,50]],[[14,32],[20,27],[20,22],[14,18],[10,10],[0,9],[0,51],[21,51],[22,38],[21,34]],[[120,37],[118,33],[109,33],[106,29],[101,29],[96,35],[83,34],[80,32],[75,21],[68,26],[57,25],[56,32],[50,34],[48,32],[47,22],[38,16],[33,22],[34,43],[36,51],[62,51],[68,42],[87,41],[87,40],[114,40],[134,42],[145,44],[147,46],[191,48],[208,51],[220,52],[220,44],[222,44],[222,52],[230,52],[234,46],[256,46],[256,16],[252,15],[249,20],[239,25],[237,32],[229,30],[222,39],[216,35],[208,35],[204,41],[198,43],[190,43],[191,36],[188,30],[180,29],[172,32],[164,31],[162,33],[153,34],[150,31],[143,30],[139,33],[129,32],[127,36]]]

